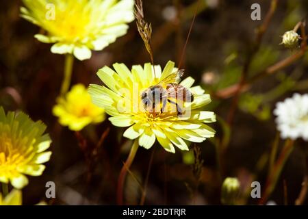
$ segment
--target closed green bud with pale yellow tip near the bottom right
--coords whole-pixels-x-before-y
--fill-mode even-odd
[[[240,181],[238,178],[227,177],[221,188],[221,203],[223,205],[235,205],[240,195]]]

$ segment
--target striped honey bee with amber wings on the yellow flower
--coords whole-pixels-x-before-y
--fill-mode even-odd
[[[147,112],[159,114],[166,112],[167,103],[175,105],[177,115],[183,114],[183,102],[194,101],[194,96],[184,86],[179,84],[184,70],[177,70],[159,81],[154,86],[144,90],[141,94],[141,101]]]

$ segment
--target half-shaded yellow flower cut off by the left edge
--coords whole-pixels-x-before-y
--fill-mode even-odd
[[[46,150],[51,144],[46,126],[34,122],[26,114],[5,112],[0,107],[0,182],[11,182],[21,189],[28,183],[27,177],[40,176],[43,163],[48,162],[51,152]]]

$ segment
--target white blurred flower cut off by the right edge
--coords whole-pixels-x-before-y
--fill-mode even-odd
[[[274,110],[281,138],[303,138],[308,141],[308,94],[294,94],[279,102]]]

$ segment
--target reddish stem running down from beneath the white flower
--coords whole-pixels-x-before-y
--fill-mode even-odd
[[[268,200],[270,194],[272,194],[272,191],[276,187],[277,181],[281,174],[281,170],[283,169],[283,166],[285,165],[285,162],[287,161],[287,158],[291,154],[293,148],[294,141],[286,140],[285,145],[283,146],[283,150],[281,151],[276,163],[274,164],[272,170],[268,173],[268,179],[266,180],[266,188],[261,196],[259,204],[264,205],[264,203],[266,203],[266,201]]]

